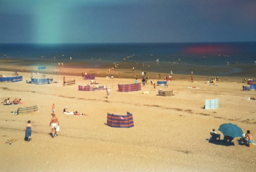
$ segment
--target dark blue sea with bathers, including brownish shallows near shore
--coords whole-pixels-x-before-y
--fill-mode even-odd
[[[131,69],[144,63],[145,70],[159,73],[172,69],[176,74],[193,70],[194,75],[254,76],[256,72],[256,42],[0,44],[0,59],[7,56],[22,60],[16,63],[31,61],[38,66],[64,63],[78,68],[109,68],[119,64]]]

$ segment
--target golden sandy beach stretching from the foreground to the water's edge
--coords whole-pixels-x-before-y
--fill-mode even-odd
[[[73,68],[46,66],[45,71],[33,74],[36,78],[53,78],[58,83],[46,85],[27,84],[31,68],[1,60],[0,74],[12,77],[13,71],[23,76],[23,81],[0,83],[1,102],[7,98],[21,98],[22,105],[3,105],[0,108],[0,169],[2,171],[255,171],[255,146],[246,147],[209,143],[210,132],[223,123],[240,126],[245,133],[250,130],[256,137],[255,91],[242,91],[244,77],[221,77],[218,86],[208,86],[213,76],[176,75],[174,82],[157,86],[154,91],[150,81],[159,73],[147,68],[150,80],[141,91],[119,92],[118,84],[133,84],[134,74],[140,82],[141,69],[136,71],[117,68]],[[78,86],[89,84],[82,72],[95,74],[99,86],[111,87],[109,99],[106,91],[79,91]],[[118,78],[118,75],[121,75]],[[106,75],[114,79],[106,79]],[[76,79],[74,86],[62,86],[62,79]],[[252,78],[253,79],[253,78]],[[187,87],[199,87],[189,89]],[[173,90],[174,96],[157,96],[158,89]],[[142,94],[150,91],[150,94]],[[219,108],[203,109],[206,99],[219,98]],[[52,104],[59,119],[58,136],[50,136]],[[18,107],[38,105],[38,112],[15,115]],[[79,111],[89,116],[75,117],[63,114],[63,108]],[[106,125],[107,112],[133,114],[134,127],[112,128]],[[34,133],[25,142],[25,126],[31,120]],[[223,134],[220,131],[217,133]],[[9,142],[12,144],[10,145]]]

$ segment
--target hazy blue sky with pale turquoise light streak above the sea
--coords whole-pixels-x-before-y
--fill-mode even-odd
[[[256,0],[0,0],[0,43],[256,41]]]

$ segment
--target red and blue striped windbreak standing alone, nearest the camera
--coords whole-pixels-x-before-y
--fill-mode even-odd
[[[107,113],[107,125],[116,128],[133,127],[132,114],[130,112],[127,112],[127,115],[114,115]]]

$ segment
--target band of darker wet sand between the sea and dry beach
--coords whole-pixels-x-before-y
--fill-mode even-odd
[[[56,62],[56,63],[52,63]],[[167,72],[157,72],[154,71],[152,67],[140,67],[138,66],[135,71],[131,70],[132,64],[136,64],[135,62],[122,62],[119,63],[119,68],[115,68],[114,71],[108,71],[108,67],[113,66],[112,63],[106,63],[106,64],[100,64],[96,65],[96,67],[91,67],[92,65],[95,65],[97,62],[93,63],[85,63],[84,65],[81,65],[79,62],[70,62],[64,63],[64,67],[62,67],[62,70],[57,71],[58,63],[57,61],[49,61],[47,63],[39,63],[38,60],[34,62],[30,62],[28,60],[20,60],[20,59],[8,59],[8,61],[5,61],[4,59],[0,59],[0,67],[2,71],[8,71],[8,72],[27,72],[27,73],[35,73],[38,66],[46,66],[46,70],[38,70],[39,73],[43,74],[55,74],[55,75],[67,75],[67,76],[81,76],[82,72],[86,72],[87,74],[95,74],[96,77],[102,77],[105,78],[107,75],[111,76],[113,75],[114,78],[118,78],[119,74],[121,74],[121,78],[127,78],[127,79],[133,79],[134,74],[138,77],[138,79],[141,77],[141,71],[147,71],[147,75],[149,75],[150,79],[158,79],[156,76],[159,76],[159,73],[161,73],[162,78],[164,76],[169,75],[169,71]],[[80,64],[80,66],[78,65]],[[79,67],[78,67],[79,66]],[[81,67],[84,66],[84,67]],[[161,68],[161,67],[160,67]],[[255,67],[256,70],[256,67]],[[56,74],[57,71],[57,74]],[[173,70],[174,71],[174,70]],[[197,73],[193,70],[194,73]],[[188,72],[189,73],[189,72]],[[12,73],[11,73],[12,74]],[[191,74],[176,74],[174,71],[173,75],[178,80],[190,80]],[[217,75],[198,75],[193,74],[194,80],[198,81],[209,81],[210,78],[216,78]],[[223,79],[224,81],[237,81],[238,83],[242,83],[244,78],[246,79],[254,79],[253,71],[242,71],[240,72],[240,75],[238,73],[235,73],[233,75],[229,76],[221,76],[218,75],[219,78]],[[251,78],[252,77],[252,78]]]

